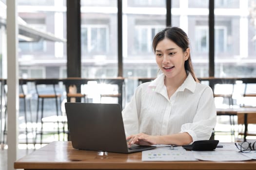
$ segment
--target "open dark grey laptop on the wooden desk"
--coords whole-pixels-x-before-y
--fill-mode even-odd
[[[65,109],[75,149],[134,153],[156,148],[140,145],[128,148],[120,104],[66,102]]]

